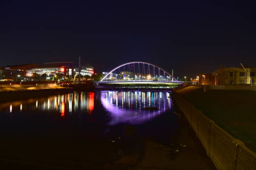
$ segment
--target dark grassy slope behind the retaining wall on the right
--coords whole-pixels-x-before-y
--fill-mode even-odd
[[[175,92],[214,120],[233,137],[256,151],[256,91],[185,87]]]

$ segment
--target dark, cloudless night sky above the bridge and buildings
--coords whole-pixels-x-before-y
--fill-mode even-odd
[[[0,66],[78,56],[96,72],[146,61],[174,76],[256,67],[256,8],[246,1],[1,1]]]

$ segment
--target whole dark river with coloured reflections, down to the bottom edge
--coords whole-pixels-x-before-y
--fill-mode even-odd
[[[1,102],[0,158],[8,168],[214,169],[174,111],[171,93],[164,91],[72,92]],[[167,160],[156,158],[152,165],[148,150]],[[182,155],[191,157],[187,166]]]

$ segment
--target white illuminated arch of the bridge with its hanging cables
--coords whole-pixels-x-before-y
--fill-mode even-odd
[[[146,74],[146,72],[145,72],[145,64],[146,64],[146,65],[148,65],[148,70],[147,70],[148,73],[147,73],[147,74],[150,75],[150,66],[152,66],[152,67],[154,68],[154,78],[155,78],[155,76],[156,76],[156,77],[158,76],[158,75],[155,75],[155,67],[156,67],[156,68],[159,69],[159,76],[160,76],[160,70],[161,70],[162,72],[164,72],[164,75],[162,76],[162,77],[164,77],[164,78],[163,78],[163,81],[167,81],[167,82],[177,81],[177,79],[176,79],[175,77],[173,77],[169,72],[167,72],[166,70],[162,69],[161,67],[159,67],[159,66],[157,66],[157,65],[151,64],[151,63],[149,63],[149,62],[133,61],[133,62],[126,62],[126,63],[124,63],[124,64],[122,64],[122,65],[119,65],[118,67],[115,67],[113,70],[111,70],[110,72],[108,72],[108,74],[106,74],[104,77],[102,77],[102,79],[100,80],[100,82],[103,82],[103,80],[106,80],[109,75],[111,75],[111,74],[113,74],[113,72],[115,72],[115,70],[119,69],[119,71],[120,71],[120,68],[123,67],[123,66],[124,66],[124,68],[125,68],[125,65],[133,64],[133,67],[134,67],[134,74],[135,74],[135,70],[136,70],[135,63],[138,64],[138,70],[139,70],[139,72],[140,72],[140,67],[139,67],[139,65],[140,65],[140,63],[143,64],[144,75]],[[128,68],[129,68],[129,66],[128,66]],[[124,71],[125,71],[125,69],[124,69]],[[121,72],[121,71],[120,71],[120,72]],[[141,73],[143,73],[143,71],[142,71]],[[152,74],[153,74],[153,73],[152,73]],[[168,75],[168,76],[165,76],[165,74]],[[166,77],[167,77],[167,78],[166,78]],[[160,78],[161,78],[161,76],[160,76]],[[158,81],[159,81],[159,80],[158,80]],[[161,80],[160,80],[160,81],[161,81]]]

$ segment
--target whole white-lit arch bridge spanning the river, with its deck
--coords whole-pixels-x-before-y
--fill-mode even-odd
[[[99,83],[179,83],[169,72],[149,62],[126,62],[108,72]]]

